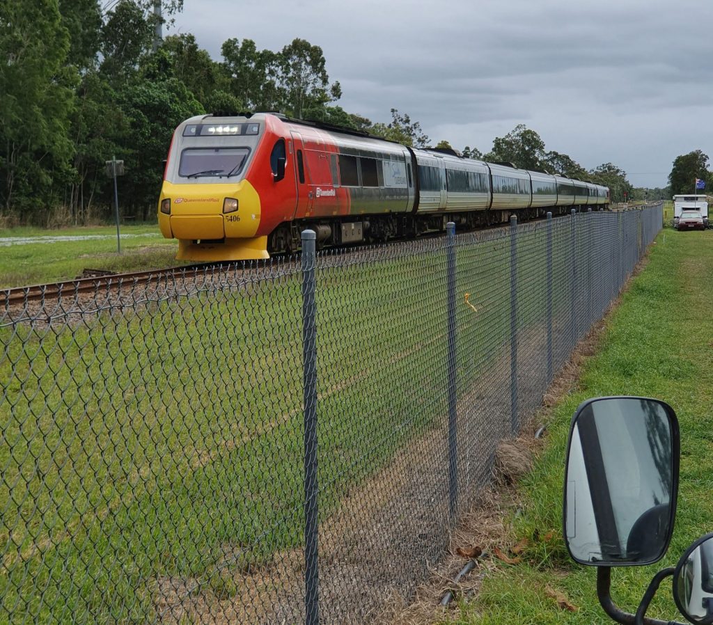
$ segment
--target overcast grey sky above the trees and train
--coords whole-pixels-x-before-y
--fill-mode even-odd
[[[435,145],[483,152],[518,123],[588,169],[663,187],[675,157],[713,156],[710,0],[184,0],[168,33],[220,60],[227,38],[321,46],[338,104],[398,108]]]

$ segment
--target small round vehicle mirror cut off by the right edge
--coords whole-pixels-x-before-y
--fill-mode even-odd
[[[681,558],[673,580],[678,609],[689,621],[713,624],[713,537],[696,541]]]

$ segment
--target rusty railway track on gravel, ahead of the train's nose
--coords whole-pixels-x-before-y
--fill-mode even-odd
[[[98,289],[120,289],[135,284],[145,284],[157,277],[170,274],[195,272],[207,267],[215,267],[220,263],[198,263],[192,265],[179,265],[166,269],[151,269],[145,272],[128,272],[125,274],[95,275],[86,278],[76,278],[48,284],[34,284],[32,286],[15,286],[11,289],[0,290],[0,307],[9,307],[27,301],[52,300],[60,296],[88,293]]]

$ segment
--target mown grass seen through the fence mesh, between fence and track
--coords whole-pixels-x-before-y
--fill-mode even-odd
[[[558,316],[570,233],[555,227]],[[520,326],[541,322],[543,236],[518,237],[518,275],[540,282]],[[509,254],[508,236],[458,250],[461,395],[509,344]],[[446,414],[445,267],[428,249],[319,272],[322,520]],[[158,578],[230,595],[228,554],[235,570],[302,543],[300,288],[289,269],[0,329],[0,622],[150,621]]]

